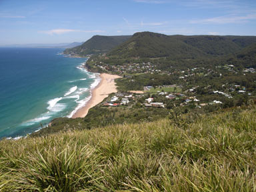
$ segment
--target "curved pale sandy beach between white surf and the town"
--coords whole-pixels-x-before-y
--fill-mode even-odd
[[[101,73],[100,77],[101,82],[91,91],[91,99],[85,104],[85,107],[79,109],[72,118],[85,117],[91,107],[101,103],[101,101],[103,101],[103,99],[105,99],[110,93],[117,92],[115,79],[121,78],[119,75]]]

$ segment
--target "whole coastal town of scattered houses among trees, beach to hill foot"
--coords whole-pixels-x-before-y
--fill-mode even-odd
[[[159,109],[179,107],[185,111],[191,109],[211,111],[216,107],[220,109],[241,105],[241,103],[247,102],[248,97],[255,95],[253,82],[248,84],[243,80],[236,80],[237,83],[231,83],[228,79],[235,78],[236,75],[242,77],[253,75],[255,73],[253,67],[241,68],[224,64],[209,67],[199,65],[186,69],[182,67],[161,69],[153,62],[110,65],[97,59],[95,61],[92,59],[89,65],[106,73],[123,76],[123,79],[116,80],[117,85],[121,85],[121,89],[119,87],[118,93],[111,94],[100,104],[101,107],[141,107],[145,109],[149,107]],[[170,78],[172,80],[166,81]],[[215,79],[215,81],[211,81],[211,79]],[[142,81],[145,82],[141,83]],[[163,84],[166,82],[175,84]],[[132,91],[134,88],[138,91]]]

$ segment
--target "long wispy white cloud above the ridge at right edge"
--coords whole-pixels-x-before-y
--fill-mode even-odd
[[[198,19],[198,20],[190,21],[189,23],[202,23],[202,24],[245,23],[253,19],[256,19],[256,14],[245,15],[245,16],[230,15],[230,16],[223,16],[223,17],[213,17],[209,19]]]

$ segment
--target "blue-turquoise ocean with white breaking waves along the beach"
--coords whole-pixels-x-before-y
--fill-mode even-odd
[[[55,117],[71,117],[89,100],[97,74],[86,58],[63,49],[0,48],[0,138],[37,131]]]

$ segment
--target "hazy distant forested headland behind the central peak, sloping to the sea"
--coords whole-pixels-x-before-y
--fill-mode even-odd
[[[117,45],[127,41],[131,36],[123,35],[123,36],[101,36],[95,35],[91,37],[88,41],[79,45],[77,47],[73,47],[71,49],[65,49],[65,54],[75,54],[75,55],[90,55],[90,54],[98,54],[98,53],[107,53]]]

